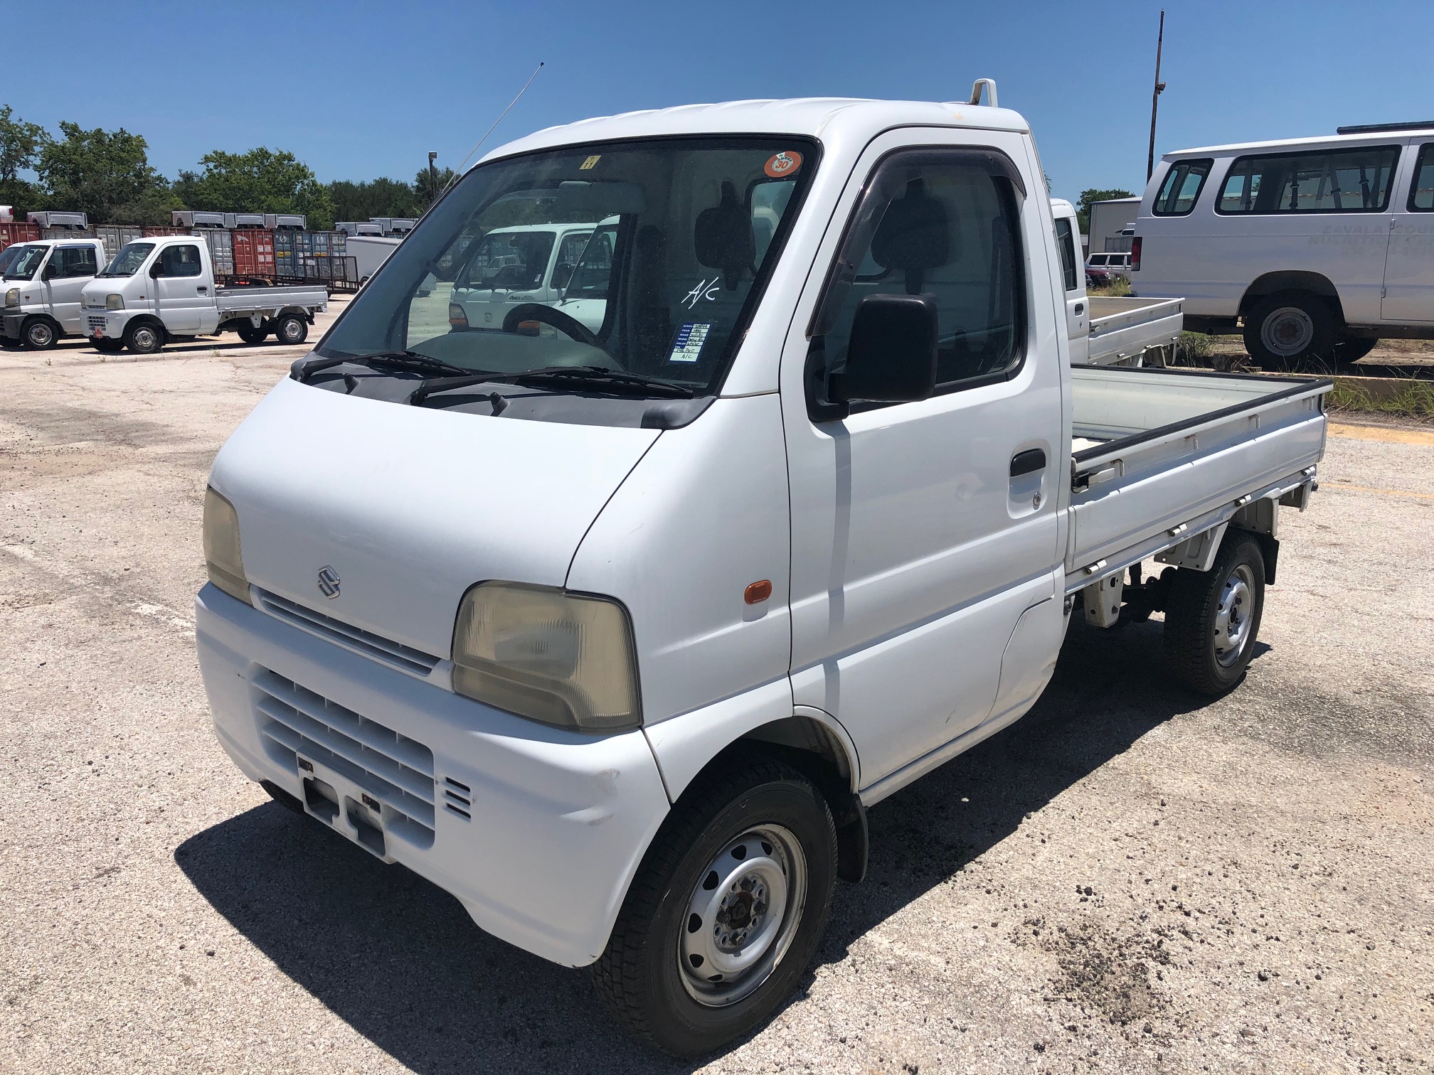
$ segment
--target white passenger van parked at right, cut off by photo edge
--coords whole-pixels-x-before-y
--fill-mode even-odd
[[[1137,295],[1263,363],[1352,363],[1434,338],[1434,125],[1166,153],[1140,204]]]

